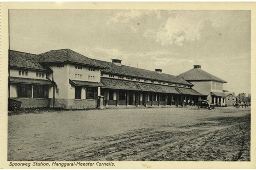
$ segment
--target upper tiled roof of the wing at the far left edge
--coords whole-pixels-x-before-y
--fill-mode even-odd
[[[22,67],[29,69],[48,70],[46,67],[38,63],[40,56],[25,52],[10,50],[10,66]]]

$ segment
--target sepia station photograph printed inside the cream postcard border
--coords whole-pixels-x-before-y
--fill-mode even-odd
[[[251,161],[250,10],[8,14],[11,167]]]

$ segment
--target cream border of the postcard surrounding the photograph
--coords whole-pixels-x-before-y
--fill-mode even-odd
[[[8,87],[8,8],[11,9],[162,9],[162,10],[251,10],[251,162],[114,162],[114,167],[66,167],[73,168],[108,168],[108,169],[255,169],[256,168],[256,112],[255,112],[255,31],[256,3],[255,2],[1,2],[1,67],[0,67],[0,167],[10,168],[7,162],[7,87]],[[238,80],[239,81],[239,80]],[[28,168],[28,167],[15,167]],[[31,167],[63,168],[64,167]]]

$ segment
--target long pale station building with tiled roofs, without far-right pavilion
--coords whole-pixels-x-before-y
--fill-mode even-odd
[[[9,51],[10,99],[22,107],[87,109],[148,107],[197,102],[202,94],[181,76],[105,62],[70,49],[42,54]]]

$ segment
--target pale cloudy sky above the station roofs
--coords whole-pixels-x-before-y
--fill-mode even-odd
[[[10,10],[11,50],[65,48],[172,75],[201,65],[225,90],[251,94],[250,11]]]

